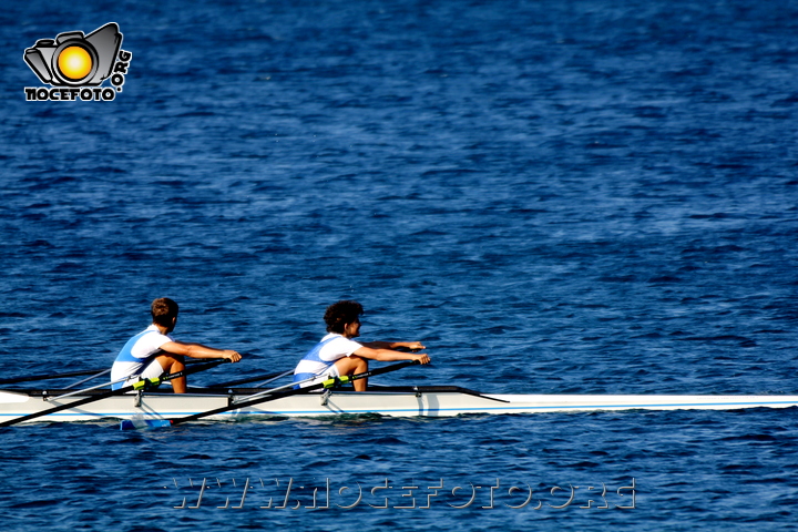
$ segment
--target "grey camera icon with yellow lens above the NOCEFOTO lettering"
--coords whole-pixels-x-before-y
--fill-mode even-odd
[[[24,51],[24,61],[52,86],[99,86],[111,76],[121,47],[122,33],[111,22],[88,35],[66,31],[40,39]]]

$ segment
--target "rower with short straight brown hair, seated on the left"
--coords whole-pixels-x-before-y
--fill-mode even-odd
[[[150,311],[152,325],[127,340],[116,356],[111,368],[111,380],[129,377],[126,381],[116,382],[113,389],[133,383],[139,379],[155,379],[162,375],[176,374],[185,369],[183,357],[191,358],[227,358],[233,362],[242,356],[231,349],[214,349],[201,344],[186,344],[173,339],[170,335],[177,323],[177,304],[168,297],[155,299]],[[185,393],[186,378],[172,379],[175,393]]]

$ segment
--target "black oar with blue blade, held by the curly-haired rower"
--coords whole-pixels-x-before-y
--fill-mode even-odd
[[[280,386],[278,388],[273,388],[272,390],[265,390],[260,391],[258,393],[255,393],[250,397],[256,397],[255,399],[246,400],[246,398],[239,402],[234,402],[232,405],[228,405],[226,407],[219,407],[215,408],[213,410],[207,410],[205,412],[195,413],[193,416],[186,416],[185,418],[172,418],[172,419],[147,419],[144,420],[146,423],[146,427],[157,429],[157,428],[164,428],[164,427],[173,427],[175,424],[186,423],[188,421],[195,421],[197,419],[207,418],[208,416],[215,416],[217,413],[227,412],[229,410],[237,410],[239,408],[246,408],[252,407],[254,405],[260,405],[268,401],[275,401],[277,399],[283,399],[284,397],[290,397],[290,396],[297,396],[299,393],[307,393],[308,391],[319,390],[321,388],[334,388],[339,385],[345,385],[347,382],[351,382],[359,379],[366,379],[368,377],[374,377],[377,375],[385,375],[389,374],[391,371],[396,371],[398,369],[407,368],[408,366],[412,366],[419,364],[418,360],[406,360],[403,362],[395,364],[392,366],[386,366],[385,368],[379,369],[372,369],[370,371],[366,371],[362,374],[357,374],[352,376],[344,376],[344,377],[335,377],[331,379],[327,379],[323,382],[317,382],[315,385],[307,386],[305,388],[299,388],[298,390],[293,389],[294,386],[296,386],[298,382],[291,382],[290,385]],[[306,380],[313,380],[315,377]],[[291,389],[286,389],[291,388]],[[123,420],[120,424],[120,429],[127,430],[127,429],[134,429],[137,428],[132,421]]]

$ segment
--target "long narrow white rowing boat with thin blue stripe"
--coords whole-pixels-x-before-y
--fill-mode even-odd
[[[66,390],[63,390],[65,392]],[[192,389],[188,393],[145,391],[105,397],[74,409],[42,416],[34,421],[92,421],[177,419],[232,406],[263,389]],[[0,421],[44,411],[100,393],[63,395],[59,390],[0,390]],[[452,386],[372,387],[366,392],[327,390],[278,398],[262,405],[232,409],[208,419],[326,417],[380,415],[392,417],[451,417],[487,413],[586,412],[601,410],[736,410],[788,408],[798,396],[671,396],[671,395],[507,395],[480,393]]]

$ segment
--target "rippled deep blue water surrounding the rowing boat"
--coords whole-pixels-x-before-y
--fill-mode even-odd
[[[112,21],[114,101],[24,100]],[[158,296],[247,354],[195,382],[284,370],[356,298],[433,359],[386,383],[796,392],[796,2],[30,1],[0,43],[2,378],[110,366]],[[37,423],[0,530],[797,530],[796,421]]]

